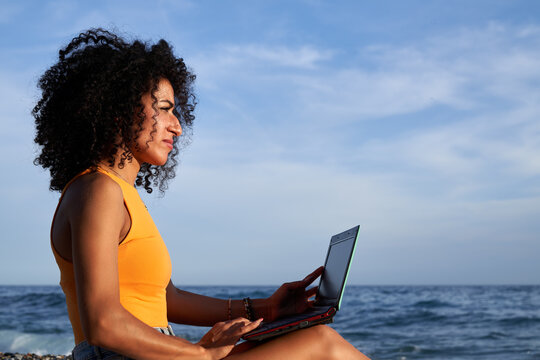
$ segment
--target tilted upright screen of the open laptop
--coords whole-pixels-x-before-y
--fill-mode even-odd
[[[331,305],[339,310],[343,288],[356,247],[359,226],[332,236],[319,283],[317,305]]]

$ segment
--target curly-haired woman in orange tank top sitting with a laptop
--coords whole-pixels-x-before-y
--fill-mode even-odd
[[[62,191],[51,226],[75,335],[74,359],[365,359],[334,330],[316,326],[262,344],[239,338],[262,319],[311,305],[322,272],[267,299],[222,300],[171,282],[169,254],[135,185],[165,191],[178,139],[194,119],[195,76],[164,40],[126,42],[89,30],[39,81],[36,164]],[[169,322],[212,326],[197,343]],[[121,355],[120,355],[121,354]]]

